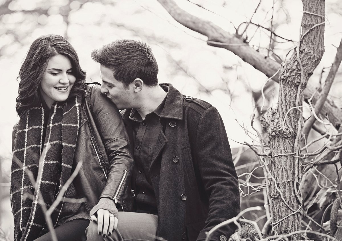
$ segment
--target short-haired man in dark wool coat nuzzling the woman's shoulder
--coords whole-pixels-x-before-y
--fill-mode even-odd
[[[92,58],[100,63],[101,92],[124,110],[136,167],[136,213],[119,212],[110,238],[205,240],[207,231],[240,212],[238,179],[217,109],[171,84],[158,85],[158,65],[145,43],[117,40],[93,50]],[[108,225],[91,222],[88,240],[101,238]],[[220,229],[212,240],[227,240],[235,228]]]

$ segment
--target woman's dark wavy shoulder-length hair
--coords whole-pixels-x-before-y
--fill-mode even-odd
[[[17,104],[15,107],[19,117],[26,115],[30,107],[41,105],[39,85],[50,58],[55,55],[63,55],[70,60],[73,75],[76,77],[68,99],[82,96],[84,93],[86,72],[81,69],[73,46],[60,35],[48,34],[40,36],[31,44],[19,71],[19,95],[16,98]]]

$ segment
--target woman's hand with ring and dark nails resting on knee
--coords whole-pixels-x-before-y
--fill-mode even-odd
[[[97,223],[97,233],[103,237],[110,236],[117,228],[119,221],[112,213],[102,208],[97,210],[97,218],[92,215],[90,220]]]

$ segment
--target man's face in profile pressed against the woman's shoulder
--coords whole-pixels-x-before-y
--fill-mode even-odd
[[[102,65],[100,65],[100,76],[102,78],[101,93],[105,94],[120,110],[133,108],[134,91],[131,85],[125,88],[122,82],[114,78],[113,71]]]

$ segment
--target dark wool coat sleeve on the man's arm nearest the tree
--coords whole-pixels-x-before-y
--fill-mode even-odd
[[[205,240],[205,232],[240,212],[240,193],[231,148],[218,110],[211,106],[200,117],[196,136],[196,159],[209,197],[209,213],[197,240]],[[212,234],[210,240],[227,240],[236,226],[227,225]]]

